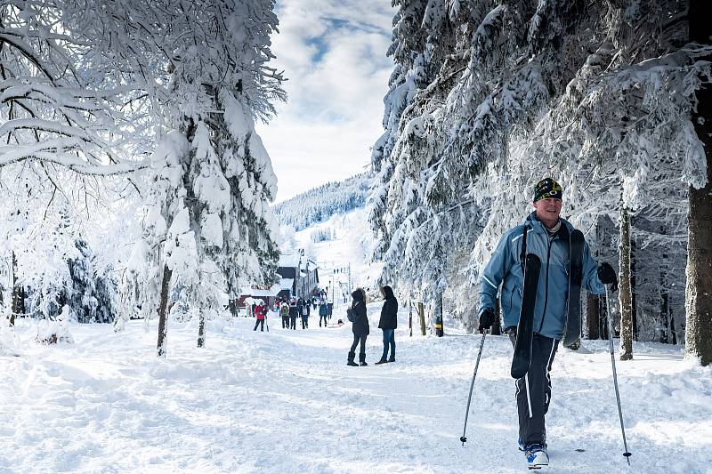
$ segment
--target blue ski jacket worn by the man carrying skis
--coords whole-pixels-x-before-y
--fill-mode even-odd
[[[499,240],[481,277],[480,313],[485,308],[494,308],[502,285],[500,305],[505,327],[519,323],[522,308],[522,234],[527,230],[527,253],[535,253],[541,259],[541,271],[537,289],[537,304],[534,310],[534,333],[562,339],[566,322],[569,297],[569,235],[573,226],[560,219],[562,227],[550,236],[536,213],[531,213],[523,224],[508,230]],[[591,257],[588,244],[584,243],[583,280],[581,287],[590,293],[605,292],[598,279],[598,265]]]

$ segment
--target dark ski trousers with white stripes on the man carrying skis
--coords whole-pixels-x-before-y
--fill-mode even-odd
[[[516,328],[508,331],[509,340],[516,341]],[[545,415],[551,401],[551,364],[559,341],[534,334],[531,341],[529,372],[516,382],[519,438],[525,446],[546,445]]]

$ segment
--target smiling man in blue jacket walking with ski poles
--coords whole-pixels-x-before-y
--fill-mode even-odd
[[[522,235],[526,234],[526,253],[541,259],[541,273],[534,311],[534,338],[531,366],[516,382],[519,412],[519,447],[531,467],[548,464],[545,414],[551,398],[549,372],[558,342],[563,337],[569,294],[569,236],[573,226],[560,217],[562,187],[546,178],[534,188],[535,211],[523,224],[508,230],[482,273],[480,290],[480,331],[490,329],[495,320],[495,301],[499,293],[505,331],[516,341],[522,307]],[[608,263],[596,264],[588,245],[583,252],[582,288],[601,294],[603,285],[615,291],[618,280]],[[501,285],[501,291],[500,291]]]

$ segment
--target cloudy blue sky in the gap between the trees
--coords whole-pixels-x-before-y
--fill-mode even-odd
[[[391,0],[279,0],[272,36],[287,103],[258,133],[279,180],[276,202],[368,168],[383,133],[392,60]]]

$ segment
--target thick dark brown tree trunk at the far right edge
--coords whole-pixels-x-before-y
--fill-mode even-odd
[[[688,14],[690,40],[708,44],[712,34],[709,0],[691,0]],[[712,89],[702,85],[697,100],[692,124],[707,154],[707,185],[702,189],[691,186],[689,192],[685,356],[708,366],[712,362]]]

